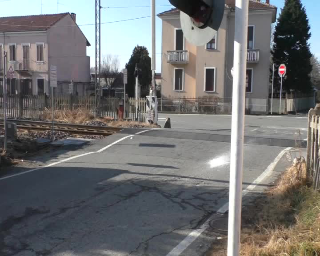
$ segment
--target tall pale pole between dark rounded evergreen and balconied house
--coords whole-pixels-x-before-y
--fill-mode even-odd
[[[151,0],[151,31],[152,31],[152,59],[151,59],[151,70],[152,70],[152,95],[157,95],[156,89],[156,80],[155,80],[155,72],[156,72],[156,0]]]

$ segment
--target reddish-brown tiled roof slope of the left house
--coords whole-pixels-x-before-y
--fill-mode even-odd
[[[69,13],[1,17],[0,32],[46,31]]]

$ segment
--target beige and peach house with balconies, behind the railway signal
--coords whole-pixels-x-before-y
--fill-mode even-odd
[[[269,98],[271,25],[276,7],[250,0],[247,58],[247,109],[266,113]],[[177,9],[162,19],[162,96],[164,98],[218,97],[232,99],[235,0],[226,0],[216,36],[205,46],[190,44],[183,36]]]

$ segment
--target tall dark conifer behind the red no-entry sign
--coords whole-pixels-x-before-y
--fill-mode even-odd
[[[276,25],[272,50],[273,62],[277,67],[275,85],[278,88],[280,87],[278,67],[283,63],[287,66],[287,74],[283,80],[285,91],[312,90],[310,77],[312,54],[308,44],[310,37],[309,20],[301,0],[286,0]]]

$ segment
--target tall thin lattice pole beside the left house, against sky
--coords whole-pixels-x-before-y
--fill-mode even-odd
[[[101,74],[100,72],[101,72],[101,0],[95,0],[95,81],[94,81],[94,105],[95,105],[94,113],[95,115],[97,115],[97,89],[98,88],[100,89],[100,74]]]

